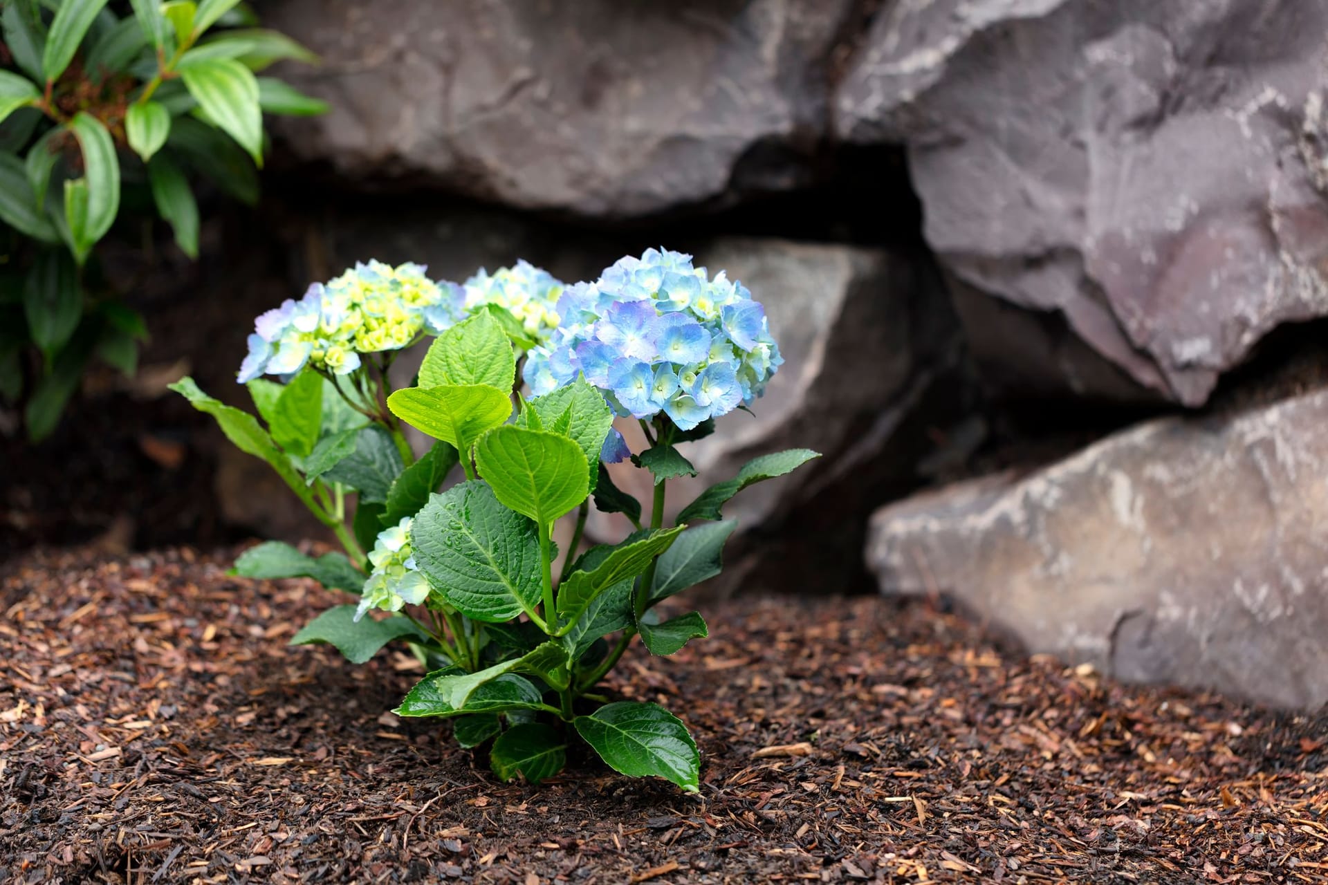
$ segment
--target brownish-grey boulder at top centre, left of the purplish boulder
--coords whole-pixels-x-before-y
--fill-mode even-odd
[[[283,0],[264,23],[324,60],[286,74],[333,106],[288,130],[305,158],[632,215],[794,184],[851,5]]]

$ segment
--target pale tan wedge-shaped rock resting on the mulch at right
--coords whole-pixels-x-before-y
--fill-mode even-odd
[[[1142,682],[1328,702],[1328,391],[1163,419],[1038,474],[876,513],[886,593],[940,592],[1033,651]]]

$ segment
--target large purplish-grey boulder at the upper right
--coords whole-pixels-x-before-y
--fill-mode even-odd
[[[1137,385],[1198,405],[1271,328],[1328,313],[1325,32],[1328,7],[1301,0],[902,0],[837,130],[908,145],[961,288],[1058,312]],[[968,329],[997,362],[1062,350],[1045,328]],[[1025,370],[1126,395],[1080,357]]]

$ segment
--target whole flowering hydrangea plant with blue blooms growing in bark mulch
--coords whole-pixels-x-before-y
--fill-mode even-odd
[[[396,354],[429,337],[416,385],[390,390]],[[696,474],[679,447],[754,402],[780,366],[750,292],[659,249],[571,287],[525,261],[463,285],[369,261],[259,316],[248,344],[239,381],[258,415],[189,378],[175,390],[345,548],[312,557],[268,541],[236,560],[238,575],[360,594],[292,644],[328,642],[357,663],[409,644],[432,669],[394,713],[453,719],[503,780],[558,774],[580,740],[624,775],[699,789],[683,722],[600,683],[637,637],[664,655],[708,634],[697,612],[663,620],[657,604],[720,572],[730,498],[817,456],[757,458],[665,524],[668,480]],[[640,423],[641,451],[615,418]],[[428,452],[414,456],[402,425],[436,441]],[[648,516],[604,467],[628,458],[653,478]],[[592,502],[635,531],[582,551]],[[555,579],[563,519],[574,529]]]

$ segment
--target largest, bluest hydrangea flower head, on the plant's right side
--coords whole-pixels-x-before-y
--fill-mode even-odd
[[[531,349],[523,377],[543,395],[578,374],[619,415],[668,415],[681,430],[750,405],[784,360],[765,308],[724,271],[710,279],[692,256],[647,249],[568,287],[560,324]]]

